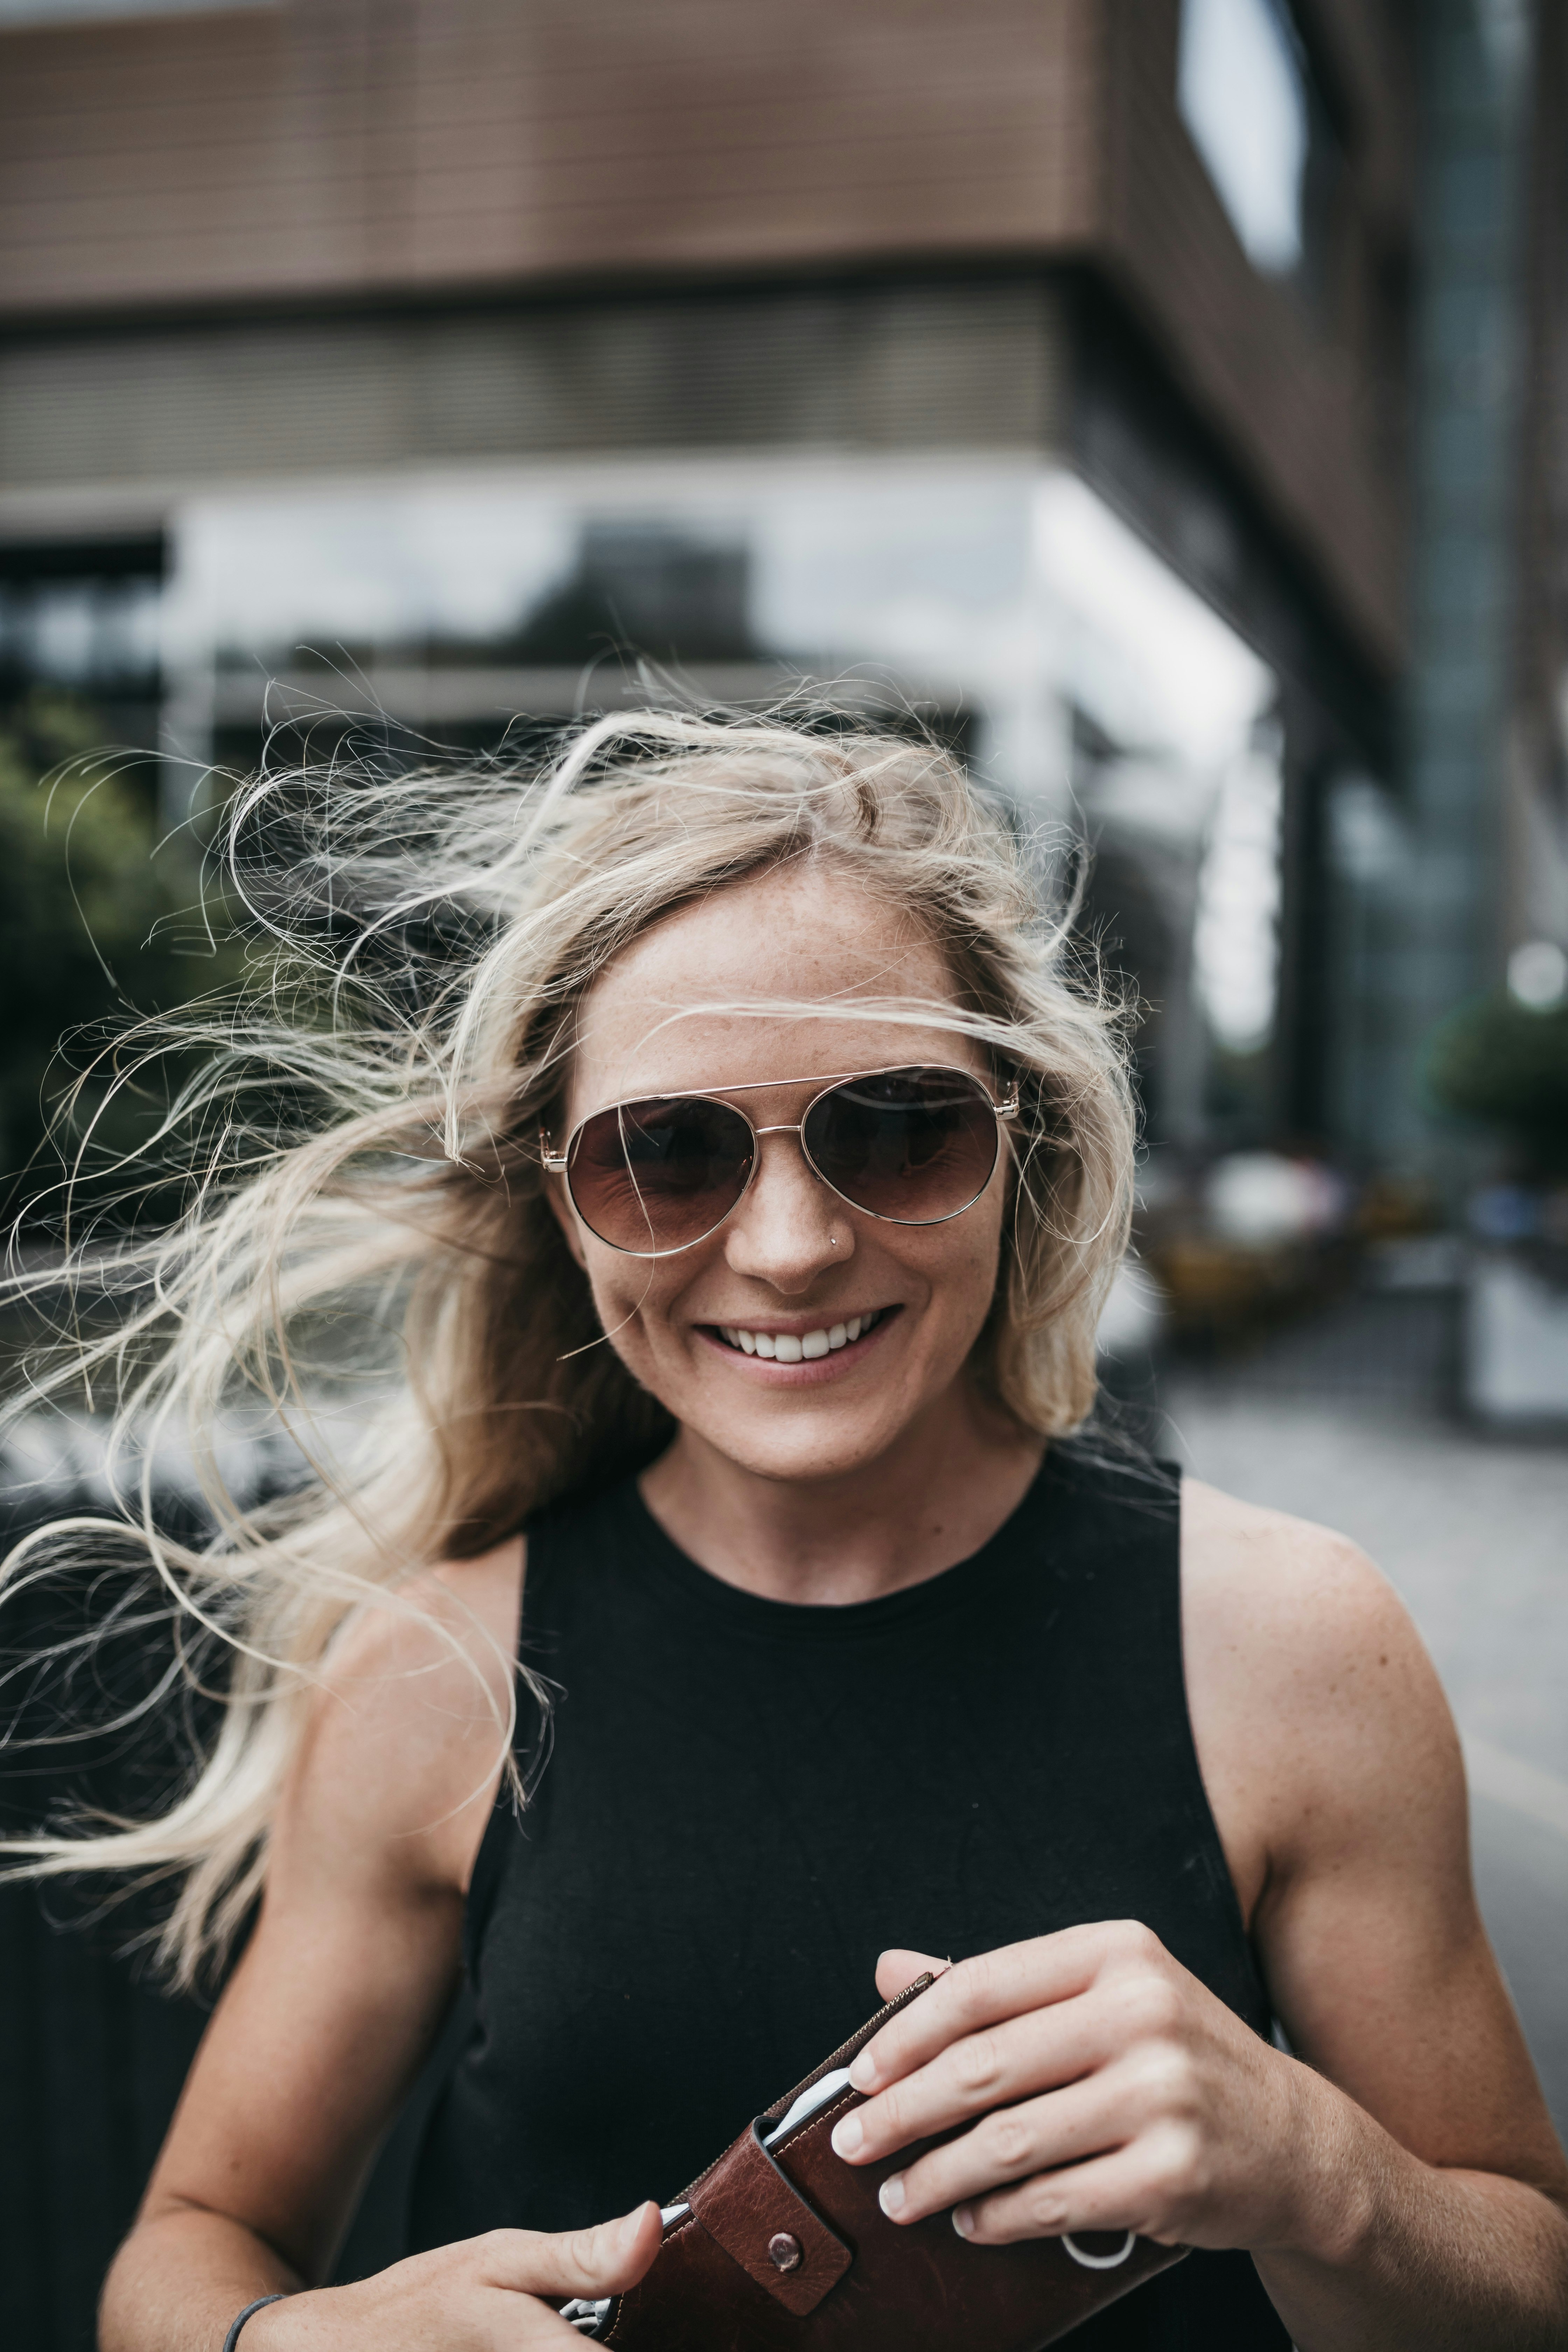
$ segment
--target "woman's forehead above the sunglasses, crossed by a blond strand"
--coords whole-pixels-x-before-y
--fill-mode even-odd
[[[910,1028],[877,997],[952,1002],[947,962],[910,913],[823,868],[752,875],[668,915],[599,974],[578,1023],[574,1105],[976,1061],[940,1018]],[[769,1009],[780,1000],[790,1011]]]

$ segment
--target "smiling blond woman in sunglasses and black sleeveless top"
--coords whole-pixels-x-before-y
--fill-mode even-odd
[[[1086,2347],[1561,2345],[1568,2171],[1401,1606],[1070,1444],[1133,1124],[999,816],[929,748],[644,715],[303,823],[381,908],[343,985],[400,948],[287,1044],[339,1115],[165,1244],[139,1406],[249,1383],[322,1477],[160,1552],[233,1642],[183,1806],[33,1849],[181,1865],[186,1969],[261,1891],[106,2352],[564,2345],[924,1969],[839,2157],[966,2124],[884,2209],[976,2263],[1199,2249]],[[435,901],[480,931],[411,988]],[[339,1397],[381,1367],[369,1454],[320,1456],[310,1331]],[[463,1964],[425,2251],[320,2286]]]

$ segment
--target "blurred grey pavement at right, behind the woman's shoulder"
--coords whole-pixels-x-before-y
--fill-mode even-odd
[[[1246,1501],[1352,1536],[1448,1691],[1481,1910],[1568,2136],[1568,1446],[1450,1409],[1458,1308],[1368,1294],[1157,1383],[1161,1451]]]

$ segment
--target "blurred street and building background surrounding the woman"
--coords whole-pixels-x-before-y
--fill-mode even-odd
[[[226,974],[263,750],[799,689],[1093,851],[1107,1392],[1408,1599],[1568,2129],[1568,9],[0,0],[19,1249],[61,1033]],[[24,1432],[7,1526],[99,1444]],[[0,1896],[21,2352],[89,2345],[200,2030],[66,1912]]]

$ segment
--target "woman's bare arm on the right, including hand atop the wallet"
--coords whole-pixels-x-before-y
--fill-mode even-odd
[[[1199,1759],[1300,2056],[1147,1929],[1081,1926],[884,2027],[835,2145],[865,2164],[978,2117],[910,2166],[896,2220],[954,2206],[978,2253],[1246,2246],[1300,2352],[1561,2352],[1568,2166],[1476,1917],[1436,1677],[1352,1545],[1206,1489],[1185,1519]],[[884,1955],[884,1994],[919,1966]]]

